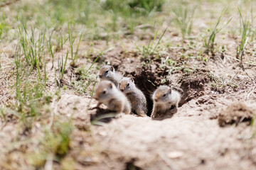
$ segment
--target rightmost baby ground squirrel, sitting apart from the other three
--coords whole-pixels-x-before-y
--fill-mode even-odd
[[[181,101],[181,94],[178,91],[172,90],[169,86],[159,86],[153,94],[153,112],[151,117],[154,118],[156,114],[166,113],[171,106],[176,106]]]

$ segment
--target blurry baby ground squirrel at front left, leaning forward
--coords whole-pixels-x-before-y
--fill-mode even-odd
[[[117,111],[117,113],[129,114],[131,111],[127,97],[111,81],[100,81],[95,90],[94,98],[99,101],[97,107],[104,103],[107,108],[111,111]]]

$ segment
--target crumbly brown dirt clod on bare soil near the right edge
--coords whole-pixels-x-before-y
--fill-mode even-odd
[[[232,103],[220,112],[218,123],[221,127],[234,123],[238,125],[241,122],[246,122],[247,125],[250,125],[252,116],[252,109],[248,108],[244,103]]]

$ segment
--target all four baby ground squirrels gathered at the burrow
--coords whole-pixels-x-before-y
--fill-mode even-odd
[[[107,108],[117,113],[130,114],[131,111],[139,116],[146,116],[146,97],[134,84],[132,77],[122,77],[114,72],[114,67],[105,65],[98,73],[100,84],[95,90],[94,98],[98,101],[98,108],[104,103]],[[169,86],[159,86],[152,96],[154,101],[151,117],[164,114],[171,109],[171,106],[178,108],[181,101],[181,94]]]

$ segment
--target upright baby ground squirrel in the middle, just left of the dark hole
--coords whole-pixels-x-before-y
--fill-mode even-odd
[[[146,97],[134,84],[134,79],[124,77],[119,83],[119,89],[127,96],[131,103],[132,110],[136,111],[137,115],[146,116]]]

